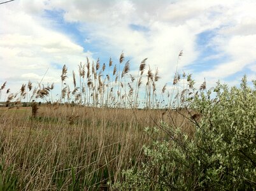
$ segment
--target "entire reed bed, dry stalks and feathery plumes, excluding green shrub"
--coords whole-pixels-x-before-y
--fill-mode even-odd
[[[191,75],[175,74],[173,90],[187,76],[180,94],[166,85],[158,92],[159,71],[148,66],[146,72],[146,60],[132,76],[124,53],[118,64],[87,59],[78,64],[78,75],[72,71],[73,85],[64,65],[57,98],[53,83],[29,81],[17,93],[7,89],[6,107],[0,108],[0,188],[109,190],[122,181],[122,171],[146,161],[143,145],[166,139],[164,132],[153,133],[155,126],[165,122],[192,136],[193,113],[178,110],[194,91]]]

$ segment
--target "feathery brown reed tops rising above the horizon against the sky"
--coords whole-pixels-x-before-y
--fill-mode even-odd
[[[168,104],[171,106],[173,102],[175,86],[173,92],[166,92],[166,85],[157,88],[157,82],[160,79],[159,70],[156,69],[153,72],[148,66],[146,71],[146,60],[141,61],[137,76],[130,73],[130,62],[125,60],[124,53],[120,55],[119,63],[114,67],[111,59],[106,65],[101,64],[99,59],[95,64],[94,61],[90,62],[87,58],[86,64],[82,64],[82,62],[78,64],[78,74],[75,71],[70,72],[72,78],[68,78],[68,67],[64,65],[60,75],[60,90],[57,90],[59,97],[55,97],[55,102],[98,108],[167,108]],[[176,74],[178,75],[178,73]],[[68,84],[70,82],[68,79],[73,80],[73,85]],[[177,78],[177,80],[180,79]],[[54,85],[44,85],[41,81],[34,85],[34,89],[29,81],[22,85],[19,92],[15,94],[8,92],[5,95],[8,97],[8,101],[13,103],[39,101],[39,99],[43,102],[53,103]],[[78,83],[76,83],[77,81]],[[0,96],[3,94],[5,85],[6,83],[1,87]],[[176,81],[174,85],[176,85]],[[169,102],[164,102],[170,94],[172,96],[169,97]]]

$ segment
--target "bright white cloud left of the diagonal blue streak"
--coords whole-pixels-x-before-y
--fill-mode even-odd
[[[91,59],[91,53],[84,52],[66,34],[43,25],[46,21],[41,22],[36,14],[44,3],[15,1],[10,5],[1,6],[0,11],[4,18],[0,25],[0,80],[10,81],[8,88],[17,88],[28,80],[36,83],[47,70],[43,82],[58,83],[61,69],[52,67],[52,63],[72,69],[86,56]]]

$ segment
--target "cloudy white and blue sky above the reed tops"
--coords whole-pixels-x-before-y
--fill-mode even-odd
[[[0,3],[4,0],[0,0]],[[255,0],[15,0],[0,4],[0,83],[13,92],[28,80],[60,82],[80,62],[118,63],[124,52],[141,60],[162,83],[178,71],[201,83],[238,85],[256,76]],[[200,84],[199,84],[200,85]]]

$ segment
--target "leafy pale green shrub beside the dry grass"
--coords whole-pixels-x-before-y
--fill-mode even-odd
[[[255,81],[253,81],[256,87]],[[189,104],[200,113],[195,133],[162,124],[168,140],[145,146],[145,163],[124,171],[117,190],[255,190],[256,91],[248,87],[201,89]],[[215,97],[211,99],[211,97]]]

